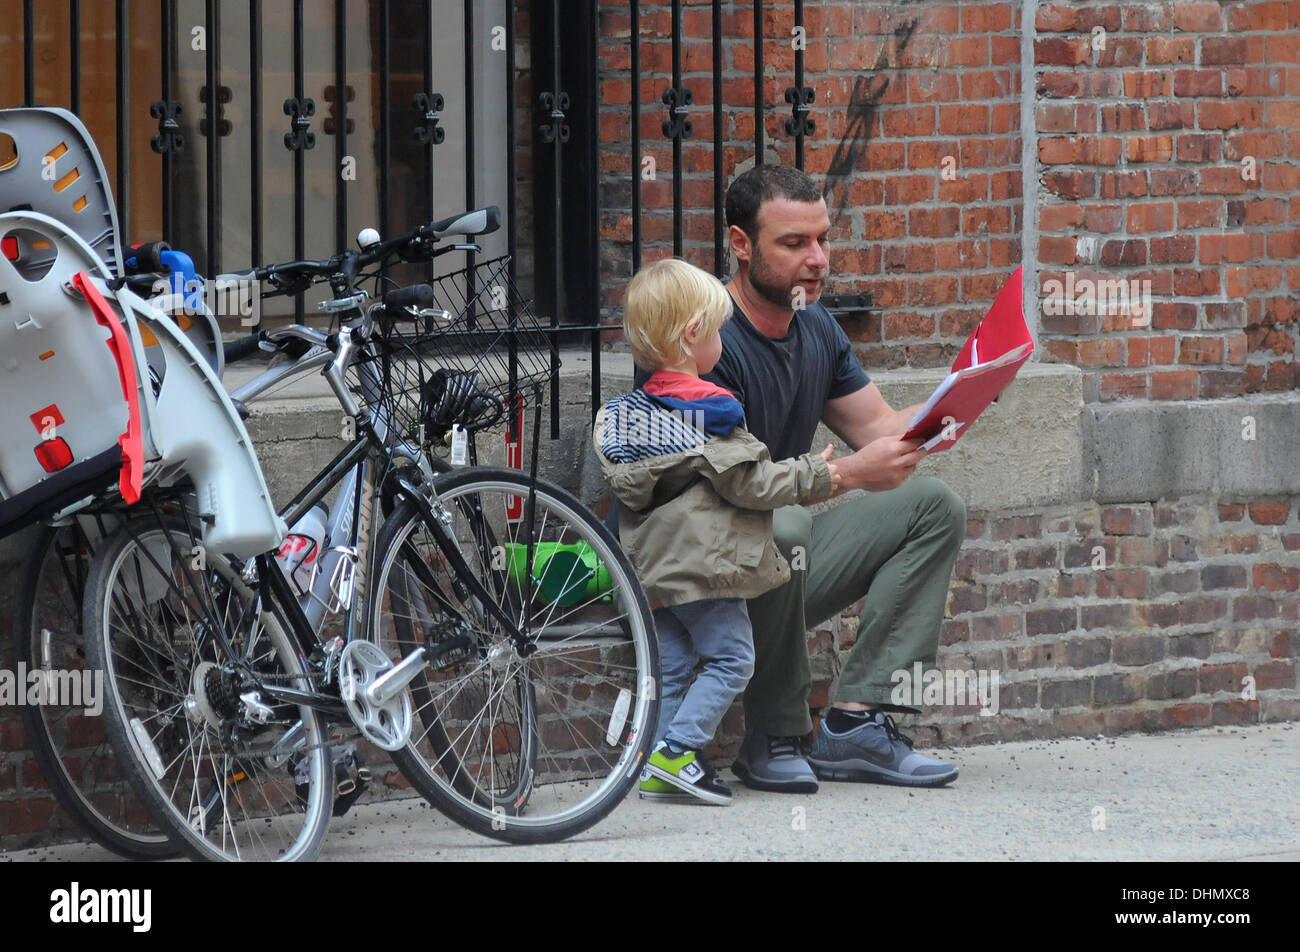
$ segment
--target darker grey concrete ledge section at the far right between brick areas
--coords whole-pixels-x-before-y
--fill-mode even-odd
[[[1086,416],[1088,494],[1097,502],[1300,492],[1296,394],[1093,406]]]

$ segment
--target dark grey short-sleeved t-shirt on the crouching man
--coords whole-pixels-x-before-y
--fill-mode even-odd
[[[796,311],[781,338],[762,334],[737,306],[722,338],[723,356],[705,378],[736,394],[749,432],[776,460],[809,453],[826,402],[871,382],[848,334],[820,303]]]

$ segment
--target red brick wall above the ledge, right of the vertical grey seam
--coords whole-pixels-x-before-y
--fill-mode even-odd
[[[1036,27],[1039,277],[1153,303],[1044,316],[1050,359],[1088,401],[1294,390],[1300,8],[1044,4]]]

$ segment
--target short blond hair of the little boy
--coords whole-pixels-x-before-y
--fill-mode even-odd
[[[638,271],[623,306],[623,332],[637,367],[658,371],[686,359],[686,328],[707,338],[731,316],[731,295],[707,271],[677,258]]]

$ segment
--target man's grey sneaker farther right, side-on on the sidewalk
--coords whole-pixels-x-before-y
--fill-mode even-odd
[[[881,710],[845,734],[831,732],[823,721],[809,762],[823,780],[942,787],[957,779],[954,765],[913,750],[911,739],[900,734],[893,718]]]

